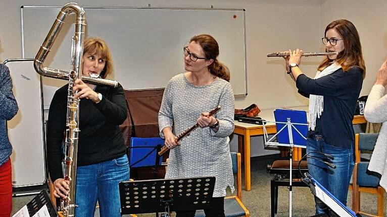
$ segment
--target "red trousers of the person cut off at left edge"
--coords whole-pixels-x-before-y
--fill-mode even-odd
[[[0,217],[10,217],[12,211],[11,159],[0,166]]]

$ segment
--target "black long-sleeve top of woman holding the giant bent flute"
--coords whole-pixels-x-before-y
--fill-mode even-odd
[[[51,101],[47,124],[47,159],[52,181],[63,178],[62,141],[66,129],[68,85],[56,91]],[[97,86],[101,102],[89,99],[79,103],[79,140],[77,166],[92,165],[115,159],[126,153],[119,125],[127,115],[127,105],[121,85],[117,88]]]

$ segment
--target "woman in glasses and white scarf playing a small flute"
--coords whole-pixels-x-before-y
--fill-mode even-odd
[[[336,20],[325,28],[322,38],[327,55],[317,68],[314,79],[300,68],[303,51],[291,51],[285,58],[287,74],[296,82],[301,95],[309,98],[310,130],[307,153],[321,152],[334,157],[336,169],[308,159],[312,177],[343,204],[347,203],[348,187],[354,167],[354,130],[352,119],[365,76],[360,39],[348,20]],[[317,158],[322,156],[315,155]],[[328,207],[315,198],[316,214],[328,213]]]

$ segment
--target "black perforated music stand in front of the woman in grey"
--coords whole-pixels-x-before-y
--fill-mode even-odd
[[[120,182],[121,214],[209,209],[214,186],[215,177]]]

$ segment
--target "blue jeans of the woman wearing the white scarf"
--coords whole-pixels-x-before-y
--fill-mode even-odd
[[[334,157],[330,162],[336,165],[336,169],[330,168],[322,162],[308,158],[309,174],[325,187],[334,197],[344,205],[347,204],[348,187],[355,165],[353,156],[353,144],[350,148],[334,147],[324,141],[319,135],[314,135],[307,139],[306,152],[322,152]],[[323,157],[318,153],[309,156]],[[316,214],[328,214],[328,207],[318,198],[315,197]]]

